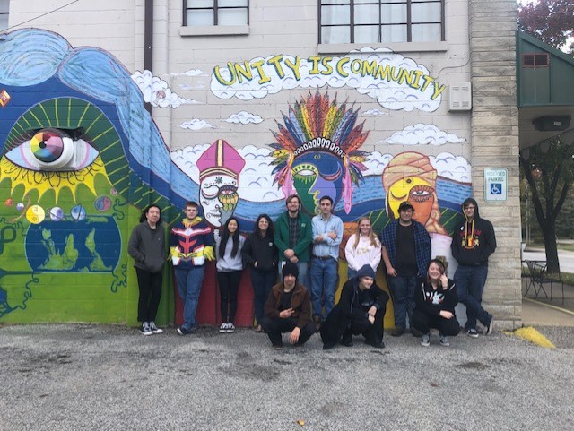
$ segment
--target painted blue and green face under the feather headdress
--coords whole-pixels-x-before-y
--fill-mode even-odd
[[[331,154],[314,151],[301,155],[293,162],[291,177],[303,208],[310,214],[320,212],[322,196],[333,199],[334,207],[341,198],[343,162]]]

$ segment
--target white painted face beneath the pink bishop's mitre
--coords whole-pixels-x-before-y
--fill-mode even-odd
[[[200,202],[205,220],[219,228],[231,217],[239,201],[237,178],[226,174],[213,174],[200,181]]]

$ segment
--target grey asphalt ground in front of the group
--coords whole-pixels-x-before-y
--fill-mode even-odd
[[[250,330],[5,325],[0,429],[571,430],[574,328],[538,329],[557,349],[497,331],[274,351]]]

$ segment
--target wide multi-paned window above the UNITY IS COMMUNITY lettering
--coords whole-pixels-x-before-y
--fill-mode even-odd
[[[319,43],[445,39],[444,0],[320,0]]]

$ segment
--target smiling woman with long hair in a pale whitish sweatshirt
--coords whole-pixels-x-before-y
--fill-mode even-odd
[[[347,277],[352,279],[363,265],[369,264],[377,273],[381,258],[381,246],[378,237],[370,226],[369,217],[361,217],[357,222],[357,231],[347,240],[344,256],[349,266]]]

